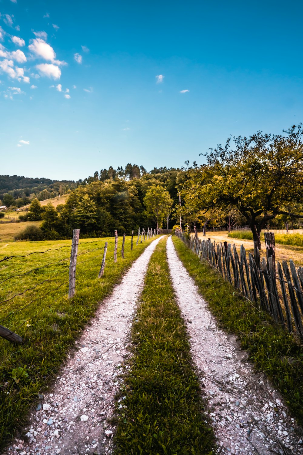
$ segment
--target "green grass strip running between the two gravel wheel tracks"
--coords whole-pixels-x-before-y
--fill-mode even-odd
[[[214,433],[193,371],[184,320],[166,261],[153,253],[132,329],[133,357],[124,378],[115,455],[213,454]]]

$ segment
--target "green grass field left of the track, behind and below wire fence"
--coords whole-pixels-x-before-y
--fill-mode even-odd
[[[104,276],[99,279],[106,240],[106,267]],[[38,393],[46,390],[47,385],[54,379],[68,350],[94,315],[100,300],[112,291],[131,263],[151,241],[152,239],[149,239],[138,246],[134,243],[131,251],[130,237],[126,237],[122,259],[119,238],[118,261],[114,263],[114,238],[80,240],[76,294],[70,300],[66,293],[71,240],[18,242],[10,243],[6,247],[0,246],[0,259],[4,256],[66,247],[0,263],[0,282],[11,275],[23,274],[37,268],[24,276],[2,282],[1,302],[50,280],[19,297],[0,303],[0,324],[15,330],[24,339],[23,344],[13,345],[0,338],[0,450],[11,440],[15,429],[25,423],[30,407],[38,401]],[[89,250],[94,251],[85,253]],[[54,262],[59,263],[38,269]]]

